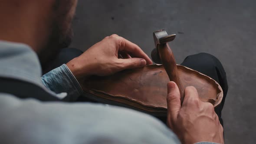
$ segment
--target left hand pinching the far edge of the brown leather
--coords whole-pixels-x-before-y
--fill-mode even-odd
[[[118,59],[119,54],[127,59]],[[152,64],[152,61],[139,46],[114,34],[105,37],[66,65],[77,79],[81,79],[90,75],[111,75],[147,64]]]

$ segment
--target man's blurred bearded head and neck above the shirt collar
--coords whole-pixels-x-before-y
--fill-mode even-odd
[[[42,64],[72,38],[77,0],[3,0],[0,40],[26,43]]]

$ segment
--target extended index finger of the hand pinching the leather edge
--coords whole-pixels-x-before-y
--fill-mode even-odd
[[[139,46],[137,46],[134,43],[131,43],[130,41],[122,37],[120,37],[120,39],[122,43],[119,47],[120,51],[131,53],[131,55],[137,58],[145,59],[148,65],[153,63],[151,59],[148,57],[148,55],[145,52],[143,52],[143,50]]]

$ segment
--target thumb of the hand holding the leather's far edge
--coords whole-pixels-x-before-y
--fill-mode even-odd
[[[145,59],[130,58],[130,59],[119,59],[122,63],[122,69],[136,69],[146,66],[147,62]]]

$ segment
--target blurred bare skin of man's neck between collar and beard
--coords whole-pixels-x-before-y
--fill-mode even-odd
[[[38,52],[47,40],[46,16],[37,3],[10,1],[0,5],[0,40],[25,43]]]

